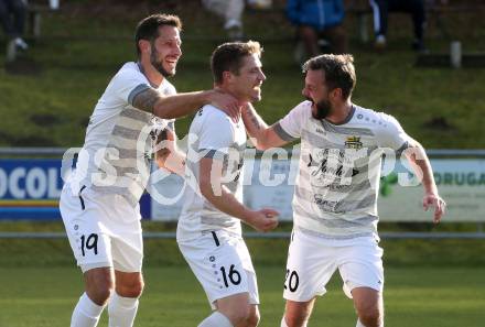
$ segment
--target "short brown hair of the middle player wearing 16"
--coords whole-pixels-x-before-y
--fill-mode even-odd
[[[229,42],[217,46],[211,56],[211,69],[214,81],[220,84],[223,81],[223,73],[227,70],[238,75],[244,57],[252,54],[261,57],[261,53],[262,47],[256,41]]]

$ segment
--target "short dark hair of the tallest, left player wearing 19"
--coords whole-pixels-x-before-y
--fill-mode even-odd
[[[137,47],[137,54],[140,56],[140,48],[138,42],[140,40],[153,41],[159,37],[159,28],[163,25],[177,28],[182,31],[182,21],[179,17],[173,14],[155,13],[142,19],[134,32],[134,46]]]

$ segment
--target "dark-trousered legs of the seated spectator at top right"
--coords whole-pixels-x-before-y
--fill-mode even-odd
[[[424,24],[425,10],[423,0],[369,0],[374,15],[374,31],[376,33],[376,48],[386,47],[386,35],[389,12],[407,12],[412,17],[414,40],[411,47],[416,51],[425,51]]]

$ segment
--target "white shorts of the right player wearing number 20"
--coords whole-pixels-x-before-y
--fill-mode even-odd
[[[294,231],[288,253],[283,297],[308,302],[325,294],[325,285],[338,269],[344,293],[352,298],[355,287],[382,292],[382,249],[374,238],[327,240]]]

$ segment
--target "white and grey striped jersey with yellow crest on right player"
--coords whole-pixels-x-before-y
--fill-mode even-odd
[[[382,154],[399,157],[411,139],[382,112],[353,105],[346,121],[333,124],[314,119],[311,106],[301,102],[276,124],[283,140],[301,139],[294,228],[327,239],[377,238]]]

